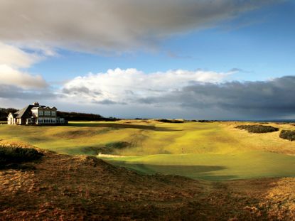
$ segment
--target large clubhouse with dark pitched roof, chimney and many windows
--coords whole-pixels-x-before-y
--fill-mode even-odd
[[[57,117],[56,107],[46,107],[35,102],[15,113],[9,113],[7,124],[15,125],[57,125],[66,124],[64,118]]]

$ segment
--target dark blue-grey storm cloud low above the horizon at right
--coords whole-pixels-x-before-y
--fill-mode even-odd
[[[221,109],[239,114],[240,117],[279,118],[295,114],[295,76],[265,82],[198,83],[161,97],[146,97],[137,102],[175,104],[203,111]]]

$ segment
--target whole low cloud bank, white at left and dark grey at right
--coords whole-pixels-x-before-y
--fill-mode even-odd
[[[63,96],[69,101],[100,107],[121,105],[120,109],[129,109],[128,116],[139,116],[136,109],[142,110],[141,117],[163,117],[161,111],[170,109],[166,117],[199,119],[279,119],[294,114],[295,76],[254,82],[226,81],[230,74],[202,70],[148,74],[136,69],[108,70],[76,77],[65,84]],[[87,94],[77,90],[74,94],[66,93],[77,85],[87,88]],[[145,108],[153,114],[144,111]]]

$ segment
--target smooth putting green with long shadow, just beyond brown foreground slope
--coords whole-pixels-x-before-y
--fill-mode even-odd
[[[139,173],[176,174],[205,180],[295,176],[295,156],[264,151],[235,154],[158,154],[104,160]]]

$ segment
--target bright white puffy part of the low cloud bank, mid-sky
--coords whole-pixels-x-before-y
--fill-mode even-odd
[[[195,82],[222,82],[232,72],[204,70],[168,70],[167,72],[144,73],[130,68],[108,70],[105,73],[75,77],[63,87],[67,97],[76,101],[100,104],[125,104],[150,96],[163,96]],[[107,102],[106,102],[107,101]]]

